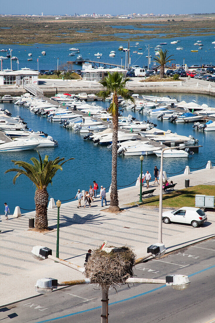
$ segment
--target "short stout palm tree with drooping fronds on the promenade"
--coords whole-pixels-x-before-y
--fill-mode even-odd
[[[48,156],[45,156],[45,159],[42,161],[42,158],[39,155],[39,160],[35,157],[32,157],[30,160],[34,165],[25,162],[25,161],[14,161],[14,165],[18,165],[19,168],[8,169],[5,173],[8,172],[17,172],[14,176],[13,183],[15,185],[16,179],[24,174],[26,175],[35,185],[35,204],[36,204],[36,216],[35,216],[35,228],[36,229],[47,229],[48,219],[47,219],[47,205],[48,205],[48,192],[47,186],[49,183],[52,185],[52,178],[55,176],[56,172],[60,169],[63,170],[62,165],[74,158],[69,158],[67,161],[64,161],[65,158],[56,157],[55,160],[48,160]],[[63,162],[61,162],[63,161]],[[20,168],[22,167],[22,168]]]

